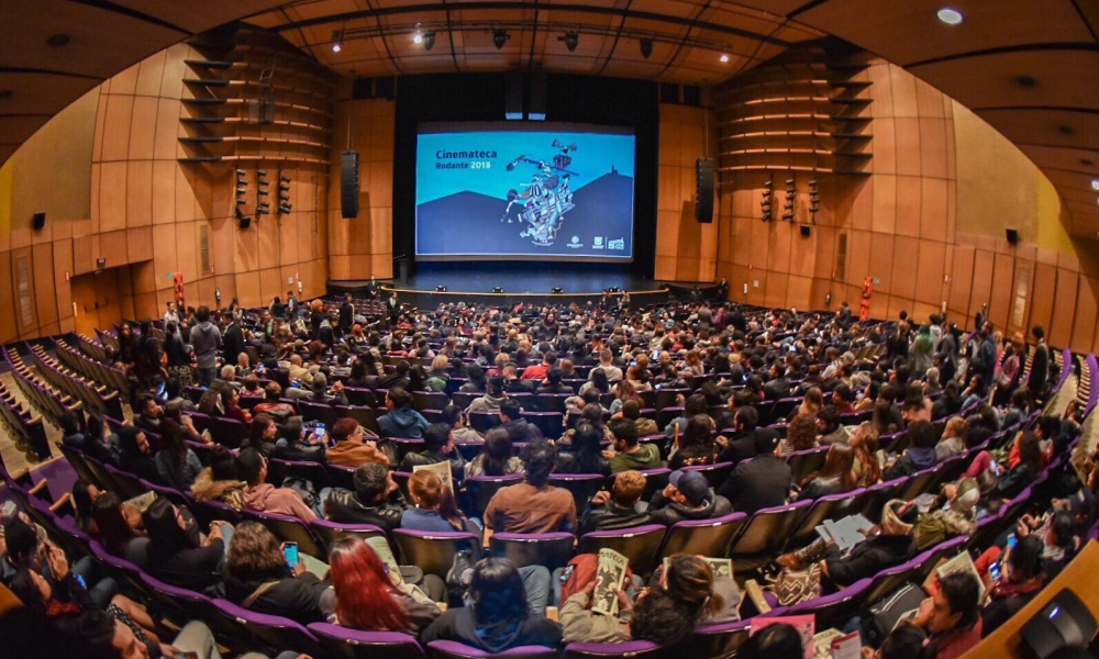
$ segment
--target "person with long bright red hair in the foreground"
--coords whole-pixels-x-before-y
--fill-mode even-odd
[[[332,588],[321,597],[321,611],[335,625],[366,632],[417,634],[440,610],[422,590],[404,583],[363,539],[337,541],[329,555]]]

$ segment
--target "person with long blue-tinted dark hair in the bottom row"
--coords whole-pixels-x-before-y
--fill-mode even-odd
[[[457,640],[492,654],[519,646],[556,648],[560,644],[560,625],[532,612],[521,571],[510,560],[478,561],[467,596],[468,605],[448,608],[435,618],[420,635],[420,643]]]

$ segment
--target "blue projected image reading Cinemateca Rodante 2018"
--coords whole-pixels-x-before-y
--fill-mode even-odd
[[[634,136],[421,132],[417,257],[633,258]]]

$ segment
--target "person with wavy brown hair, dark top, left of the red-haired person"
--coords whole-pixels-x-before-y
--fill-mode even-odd
[[[290,568],[282,546],[258,522],[242,522],[233,532],[225,561],[225,599],[300,625],[322,623],[321,595],[329,584],[306,570],[304,560]]]

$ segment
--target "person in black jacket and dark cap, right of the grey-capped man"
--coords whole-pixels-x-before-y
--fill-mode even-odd
[[[753,514],[765,507],[786,503],[790,495],[790,466],[781,459],[781,440],[777,434],[756,435],[756,456],[733,469],[718,490],[726,496],[733,510]]]

